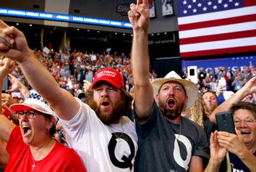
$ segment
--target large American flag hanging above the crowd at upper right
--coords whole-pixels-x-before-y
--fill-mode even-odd
[[[256,0],[178,0],[182,58],[256,51]]]

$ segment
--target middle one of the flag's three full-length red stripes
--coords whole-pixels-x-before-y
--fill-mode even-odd
[[[231,32],[231,33],[208,35],[208,36],[201,36],[201,37],[183,38],[183,39],[179,39],[179,44],[186,45],[186,44],[192,44],[192,43],[198,43],[198,42],[231,40],[231,39],[242,38],[242,37],[256,37],[256,30]]]

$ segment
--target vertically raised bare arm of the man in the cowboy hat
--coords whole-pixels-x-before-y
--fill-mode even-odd
[[[146,119],[153,105],[153,88],[148,75],[148,0],[137,0],[137,4],[131,4],[130,7],[128,15],[133,28],[132,76],[135,83],[135,112],[137,117]]]

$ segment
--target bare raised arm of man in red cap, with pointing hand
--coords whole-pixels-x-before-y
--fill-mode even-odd
[[[4,52],[6,57],[17,61],[33,89],[48,101],[61,119],[72,119],[78,112],[79,104],[69,92],[59,88],[51,73],[28,47],[25,35],[17,28],[9,27],[0,21],[0,37],[2,37],[0,39],[1,52]]]

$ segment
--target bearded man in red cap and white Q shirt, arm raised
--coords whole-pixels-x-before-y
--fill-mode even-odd
[[[137,134],[134,123],[125,117],[131,112],[132,97],[124,90],[119,71],[103,68],[95,73],[90,100],[94,111],[59,87],[20,30],[1,20],[0,29],[1,53],[17,61],[33,89],[54,109],[69,147],[77,151],[87,171],[134,171]]]

